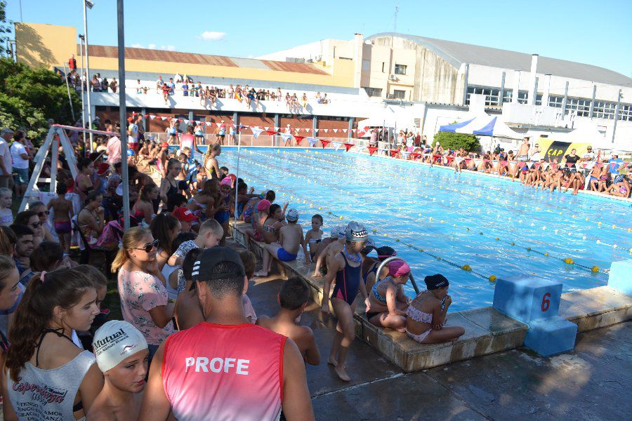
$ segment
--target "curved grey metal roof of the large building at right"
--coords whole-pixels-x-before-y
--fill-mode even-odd
[[[473,65],[501,67],[503,69],[522,70],[525,72],[529,72],[531,70],[532,55],[518,53],[516,51],[473,46],[471,44],[463,44],[461,42],[426,38],[425,36],[400,34],[399,32],[381,32],[380,34],[367,37],[367,40],[388,36],[407,39],[408,41],[413,41],[416,44],[424,46],[456,68],[461,67],[462,63],[470,63]],[[607,83],[610,85],[632,86],[632,79],[612,70],[543,56],[540,56],[538,59],[538,73]]]

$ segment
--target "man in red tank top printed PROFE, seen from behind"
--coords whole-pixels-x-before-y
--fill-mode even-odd
[[[140,420],[313,420],[303,357],[283,335],[248,323],[235,250],[207,248],[192,272],[206,321],[158,348]]]

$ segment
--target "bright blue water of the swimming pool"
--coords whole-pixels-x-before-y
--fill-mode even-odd
[[[220,166],[235,172],[236,152],[223,149]],[[323,216],[326,236],[333,225],[363,222],[378,246],[392,246],[409,262],[421,289],[424,276],[444,274],[452,311],[491,305],[491,275],[534,274],[561,281],[568,292],[605,285],[604,269],[632,258],[629,203],[322,149],[242,148],[239,177],[274,189],[279,204],[289,201],[305,230],[314,213]]]

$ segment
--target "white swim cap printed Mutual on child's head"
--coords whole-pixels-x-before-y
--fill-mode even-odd
[[[147,349],[147,341],[130,323],[111,320],[98,328],[92,347],[99,369],[105,373],[130,355]]]

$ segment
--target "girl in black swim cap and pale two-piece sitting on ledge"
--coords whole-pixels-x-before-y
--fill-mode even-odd
[[[447,295],[449,282],[442,274],[426,276],[425,291],[417,295],[406,312],[406,333],[422,344],[456,342],[465,329],[461,326],[445,325],[445,315],[452,304]]]

